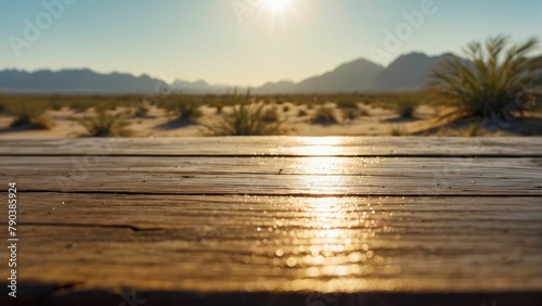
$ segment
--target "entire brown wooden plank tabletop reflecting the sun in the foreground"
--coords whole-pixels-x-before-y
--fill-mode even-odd
[[[0,177],[2,305],[541,302],[541,138],[0,140]]]

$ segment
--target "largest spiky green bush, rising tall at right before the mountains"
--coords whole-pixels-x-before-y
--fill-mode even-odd
[[[482,44],[472,42],[465,48],[468,61],[450,56],[433,72],[429,84],[437,102],[453,106],[449,115],[511,115],[512,111],[531,106],[532,97],[526,89],[540,68],[529,59],[539,41],[531,38],[511,44],[506,36],[491,37]]]

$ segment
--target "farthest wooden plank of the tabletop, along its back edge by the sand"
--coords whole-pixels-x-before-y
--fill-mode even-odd
[[[0,140],[0,155],[542,156],[542,138],[223,137]]]

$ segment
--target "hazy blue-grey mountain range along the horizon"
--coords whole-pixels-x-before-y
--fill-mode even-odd
[[[387,67],[364,59],[345,63],[335,69],[313,76],[299,82],[267,82],[253,88],[256,94],[273,93],[334,93],[334,92],[392,92],[416,90],[429,80],[433,69],[453,54],[428,56],[410,53],[399,56]],[[539,58],[542,63],[542,56]],[[176,80],[170,85],[142,75],[99,74],[90,69],[65,69],[59,72],[37,71],[34,73],[9,69],[0,71],[0,92],[17,93],[74,93],[74,94],[119,94],[157,93],[164,89],[185,93],[233,92],[233,86],[209,85],[205,80],[194,82]],[[238,87],[238,92],[246,88]]]

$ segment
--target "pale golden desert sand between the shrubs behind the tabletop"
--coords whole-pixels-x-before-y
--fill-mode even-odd
[[[447,123],[438,119],[435,109],[420,105],[412,118],[399,117],[392,110],[359,103],[359,110],[365,115],[354,119],[343,118],[341,110],[335,103],[324,106],[333,107],[338,119],[336,124],[317,124],[311,119],[317,107],[296,105],[289,102],[276,106],[282,120],[282,135],[288,136],[511,136],[522,135],[524,130],[540,133],[540,124],[530,125],[518,119],[514,126],[508,125],[508,131],[482,130],[469,135],[469,126],[481,124],[481,119],[470,119],[465,123]],[[131,123],[129,129],[133,137],[205,137],[212,132],[205,126],[220,122],[222,116],[231,113],[232,106],[224,106],[221,114],[216,107],[202,106],[203,116],[194,119],[178,119],[178,116],[163,109],[152,107],[144,117],[127,115]],[[300,111],[306,114],[300,115]],[[115,112],[130,114],[129,110],[118,107]],[[93,109],[83,113],[75,112],[68,107],[59,111],[48,110],[46,115],[55,126],[49,130],[29,129],[26,127],[10,128],[14,117],[0,115],[0,138],[74,138],[86,135],[86,129],[78,123],[83,116],[95,114]],[[535,114],[537,117],[537,114]],[[538,114],[538,119],[542,116]],[[527,126],[526,126],[527,125]]]

